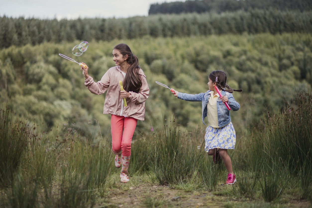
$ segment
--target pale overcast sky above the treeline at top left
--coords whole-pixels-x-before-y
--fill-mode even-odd
[[[165,0],[0,0],[0,16],[41,19],[147,16],[149,5]],[[166,0],[173,2],[178,0]],[[185,1],[185,0],[179,0]]]

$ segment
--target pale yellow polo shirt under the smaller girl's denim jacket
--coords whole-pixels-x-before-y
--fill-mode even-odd
[[[217,113],[217,99],[220,97],[217,93],[213,95],[214,91],[209,92],[211,96],[208,99],[207,103],[207,119],[208,125],[213,128],[219,128],[218,125],[218,113]]]

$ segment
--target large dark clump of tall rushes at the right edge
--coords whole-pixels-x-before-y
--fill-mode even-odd
[[[253,125],[246,141],[246,166],[254,171],[260,165],[270,171],[270,164],[288,167],[296,176],[303,166],[312,166],[312,94],[311,89],[297,92],[293,102],[285,102],[281,113],[269,114]]]

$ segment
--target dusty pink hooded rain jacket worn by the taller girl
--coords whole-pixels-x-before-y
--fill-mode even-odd
[[[85,79],[85,86],[93,94],[103,94],[107,90],[103,114],[113,114],[117,116],[132,117],[144,121],[145,100],[149,97],[149,85],[142,69],[139,69],[142,87],[139,93],[130,91],[129,98],[126,98],[127,106],[124,107],[120,97],[119,80],[124,81],[120,66],[114,66],[107,70],[102,79],[94,82],[89,76]]]

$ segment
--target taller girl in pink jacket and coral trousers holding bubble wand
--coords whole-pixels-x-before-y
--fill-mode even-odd
[[[144,120],[145,100],[149,97],[149,85],[139,61],[126,44],[118,44],[113,49],[116,66],[110,68],[102,79],[94,82],[88,69],[81,67],[85,76],[85,86],[93,94],[103,94],[106,90],[103,114],[111,114],[112,152],[115,166],[121,168],[121,182],[128,182],[128,167],[131,155],[131,140],[138,120]],[[83,63],[84,64],[84,63]],[[119,80],[124,90],[120,90]],[[123,98],[127,106],[124,106]]]

